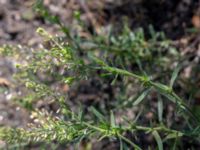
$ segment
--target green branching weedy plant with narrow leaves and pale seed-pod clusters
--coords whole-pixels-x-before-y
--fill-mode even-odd
[[[43,47],[0,48],[4,57],[18,55],[20,59],[25,58],[23,63],[19,61],[16,65],[15,80],[27,89],[27,94],[14,98],[13,102],[28,109],[32,119],[26,128],[0,128],[0,139],[8,147],[35,143],[80,147],[87,143],[87,149],[93,141],[106,139],[117,142],[119,149],[143,149],[140,135],[146,134],[154,137],[154,143],[157,143],[149,148],[162,150],[164,144],[171,149],[180,148],[186,137],[198,140],[199,116],[176,91],[176,81],[185,67],[185,59],[163,33],[155,32],[150,26],[147,39],[143,29],[133,32],[125,24],[119,35],[110,32],[105,37],[95,35],[91,39],[82,39],[70,34],[59,18],[52,16],[41,1],[38,2],[37,12],[59,25],[66,37],[52,35],[39,27],[36,32],[44,40]],[[175,67],[170,67],[171,63],[176,64]],[[81,84],[82,80],[94,76],[113,88],[120,87],[121,91],[113,94],[114,101],[109,99],[109,107],[104,104],[76,105],[74,109],[70,96],[51,85],[58,82],[74,86],[73,83]],[[130,94],[127,92],[130,86],[138,90]],[[157,110],[147,105],[155,103],[153,99],[157,100]],[[39,100],[58,105],[56,111],[36,107]],[[103,100],[100,103],[104,103]],[[168,104],[176,107],[174,114],[181,117],[182,125],[176,125],[176,122],[175,125],[167,124],[165,111]],[[142,111],[137,111],[134,118],[126,115],[141,106],[146,110],[153,109],[156,114],[150,123],[144,121]],[[119,115],[120,111],[123,113]],[[174,118],[170,119],[173,122]]]

